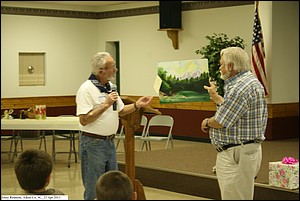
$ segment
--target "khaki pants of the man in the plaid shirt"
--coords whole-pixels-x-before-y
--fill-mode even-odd
[[[251,143],[218,152],[216,174],[222,200],[253,200],[254,178],[260,169],[260,143]]]

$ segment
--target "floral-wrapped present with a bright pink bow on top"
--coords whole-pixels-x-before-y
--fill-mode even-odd
[[[269,185],[285,189],[299,188],[299,162],[292,157],[269,162]]]

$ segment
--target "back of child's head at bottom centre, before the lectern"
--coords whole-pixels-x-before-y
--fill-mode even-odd
[[[96,185],[97,200],[134,200],[131,179],[123,172],[111,170],[102,174]]]

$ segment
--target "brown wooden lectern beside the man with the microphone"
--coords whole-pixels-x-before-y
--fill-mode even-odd
[[[128,96],[121,96],[125,105],[132,104],[135,102],[134,99]],[[158,110],[153,109],[149,106],[142,107],[139,110],[128,114],[124,117],[120,117],[122,124],[125,126],[125,173],[131,179],[134,190],[137,193],[138,200],[146,200],[143,185],[137,179],[135,179],[135,132],[140,128],[141,118],[143,113],[161,114]]]

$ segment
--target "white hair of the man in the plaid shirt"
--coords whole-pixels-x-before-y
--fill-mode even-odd
[[[224,64],[232,63],[234,70],[239,73],[251,69],[249,56],[246,51],[240,47],[228,47],[222,49],[220,55]]]

